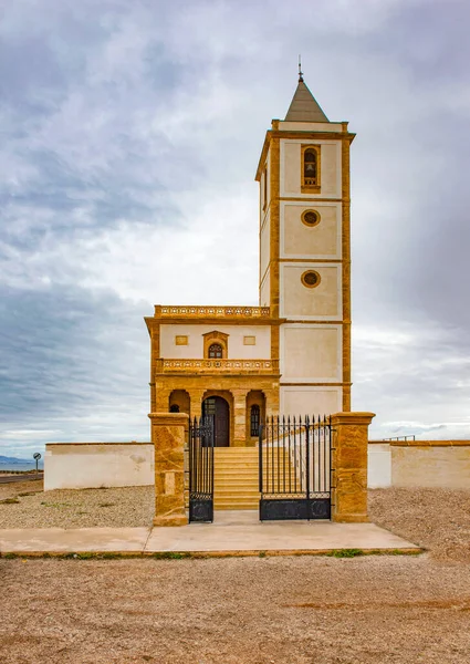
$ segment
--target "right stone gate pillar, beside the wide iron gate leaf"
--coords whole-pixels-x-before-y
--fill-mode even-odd
[[[367,442],[374,413],[332,415],[332,520],[361,523],[367,517]]]

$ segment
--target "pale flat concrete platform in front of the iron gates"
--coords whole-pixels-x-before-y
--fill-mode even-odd
[[[258,511],[219,511],[213,523],[181,528],[61,528],[0,530],[0,552],[189,553],[192,556],[324,554],[340,549],[365,553],[418,553],[420,548],[374,523],[260,522]]]

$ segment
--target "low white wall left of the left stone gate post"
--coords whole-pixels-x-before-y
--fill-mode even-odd
[[[153,485],[152,443],[48,443],[44,490]]]

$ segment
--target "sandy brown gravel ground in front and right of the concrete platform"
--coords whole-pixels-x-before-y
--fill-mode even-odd
[[[469,663],[470,491],[376,490],[370,507],[429,552],[1,559],[0,662]]]

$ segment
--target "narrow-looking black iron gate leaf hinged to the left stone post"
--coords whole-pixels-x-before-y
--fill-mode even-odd
[[[213,416],[189,422],[189,521],[213,521]]]

